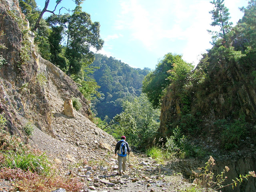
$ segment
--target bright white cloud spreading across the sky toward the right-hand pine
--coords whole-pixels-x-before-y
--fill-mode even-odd
[[[238,6],[243,6],[243,1],[225,0],[234,24],[242,18]],[[198,55],[212,47],[207,29],[216,28],[210,26],[213,5],[207,0],[128,0],[120,1],[120,6],[116,31],[125,34],[127,41],[140,42],[150,52],[163,56],[176,51],[196,65]]]

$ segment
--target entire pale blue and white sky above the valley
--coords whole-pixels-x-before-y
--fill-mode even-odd
[[[54,9],[55,2],[50,0],[48,10]],[[42,10],[45,0],[36,3]],[[248,0],[224,0],[224,4],[236,24],[243,16],[238,8],[247,6]],[[74,2],[62,0],[62,6],[73,9]],[[210,0],[86,0],[82,8],[92,22],[100,22],[105,42],[99,53],[131,67],[154,69],[168,52],[181,54],[196,66],[200,55],[212,47],[207,32],[214,30]]]

